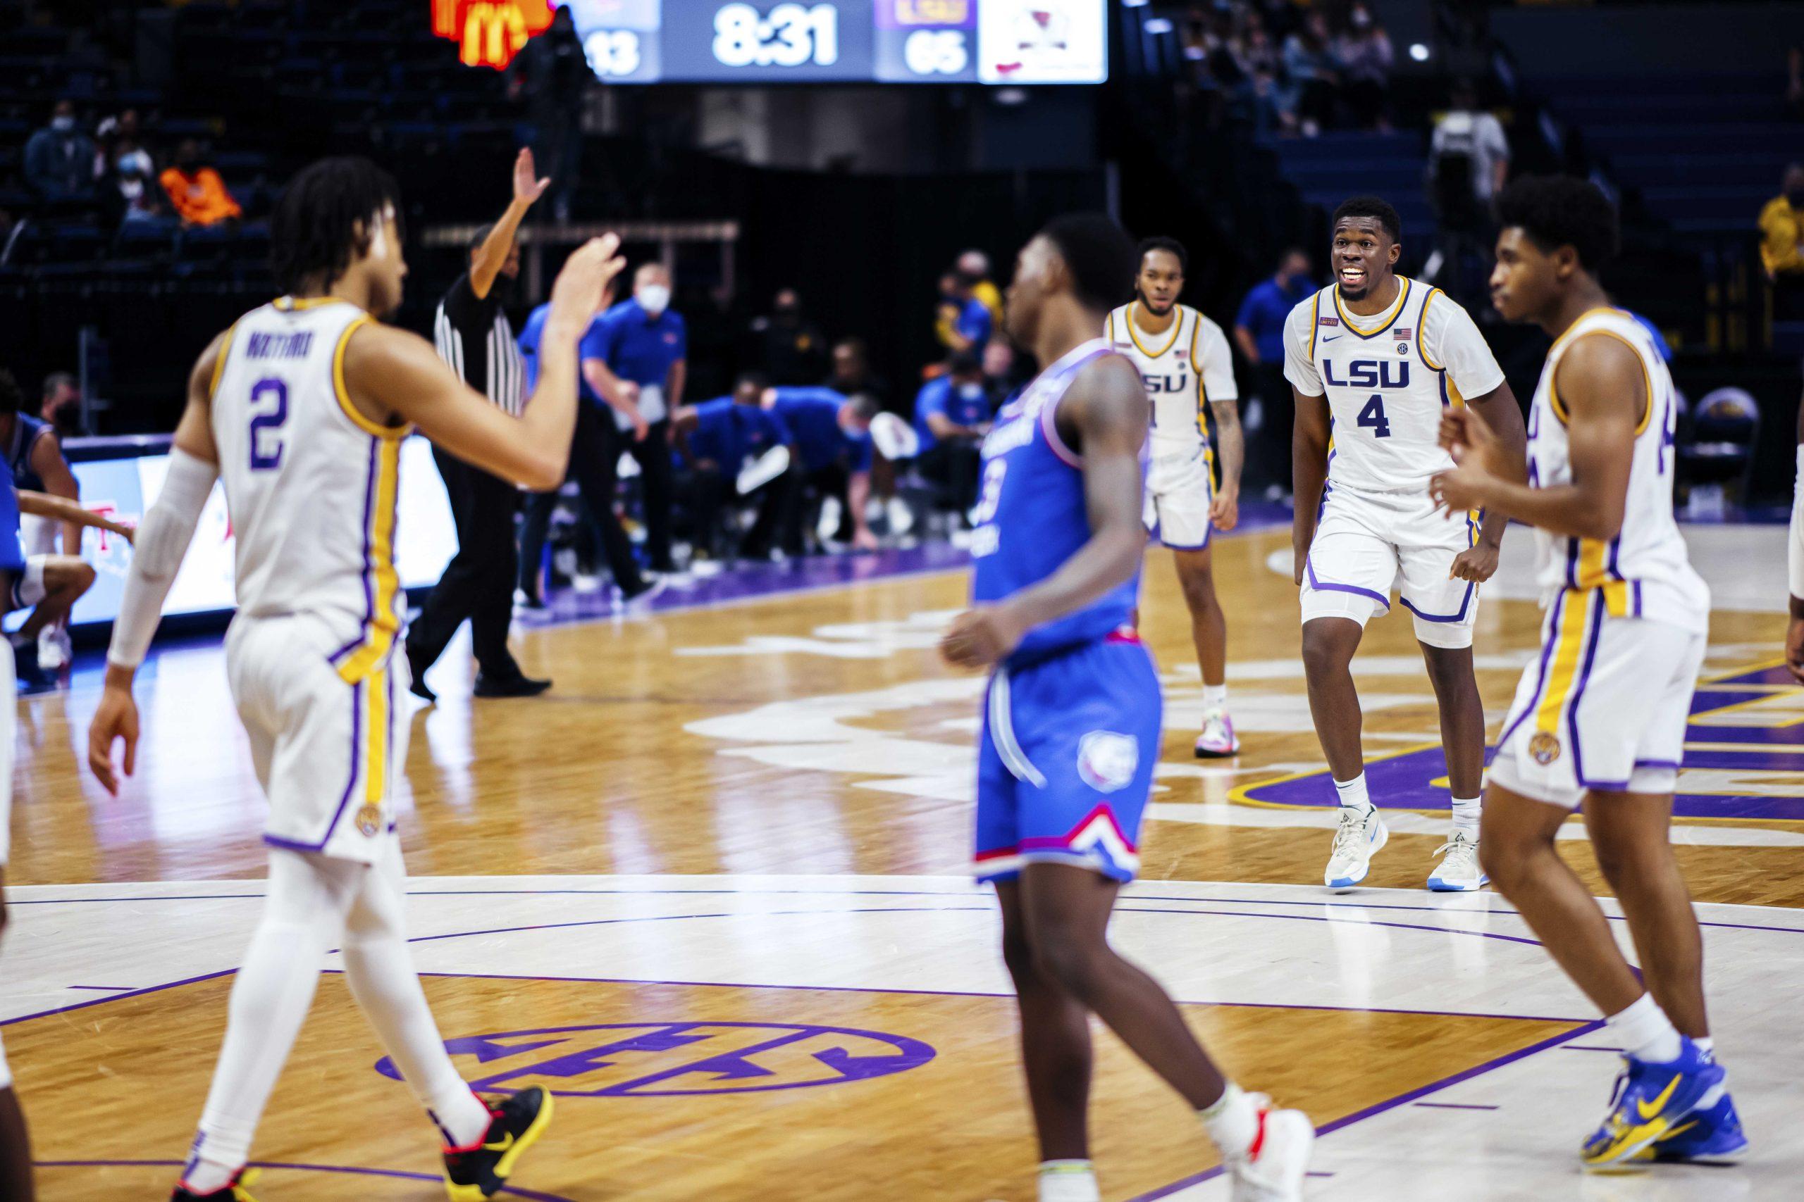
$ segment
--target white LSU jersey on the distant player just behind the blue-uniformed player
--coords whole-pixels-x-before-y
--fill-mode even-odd
[[[1234,357],[1221,326],[1189,305],[1176,306],[1176,321],[1165,333],[1147,333],[1135,326],[1140,301],[1129,301],[1109,314],[1104,337],[1109,348],[1126,355],[1140,369],[1147,400],[1153,404],[1147,434],[1155,442],[1185,445],[1207,443],[1207,409],[1218,400],[1238,400]]]

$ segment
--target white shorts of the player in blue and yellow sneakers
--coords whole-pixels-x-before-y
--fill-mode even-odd
[[[1548,607],[1541,654],[1515,690],[1490,779],[1575,809],[1588,789],[1672,793],[1707,638],[1671,622],[1611,618],[1602,589]]]

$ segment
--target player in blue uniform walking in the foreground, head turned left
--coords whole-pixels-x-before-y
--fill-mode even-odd
[[[1315,1132],[1209,1060],[1156,980],[1108,942],[1138,869],[1160,742],[1153,660],[1129,625],[1147,400],[1104,319],[1135,247],[1100,214],[1055,220],[1016,263],[1008,335],[1045,366],[983,442],[972,607],[940,652],[990,669],[978,751],[978,879],[996,883],[1003,961],[1039,1134],[1039,1200],[1097,1202],[1090,1015],[1201,1115],[1238,1202],[1295,1202]]]

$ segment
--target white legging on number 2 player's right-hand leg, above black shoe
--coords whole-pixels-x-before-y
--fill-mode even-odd
[[[469,1092],[438,1038],[408,952],[404,906],[406,872],[399,849],[390,849],[370,867],[346,921],[345,977],[400,1078],[438,1125],[446,1146],[467,1148],[489,1134],[489,1108]]]

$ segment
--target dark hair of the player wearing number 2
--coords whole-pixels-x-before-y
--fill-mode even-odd
[[[370,245],[370,222],[384,209],[400,222],[400,187],[368,159],[321,159],[289,180],[269,222],[269,267],[276,288],[332,287],[352,256]]]

